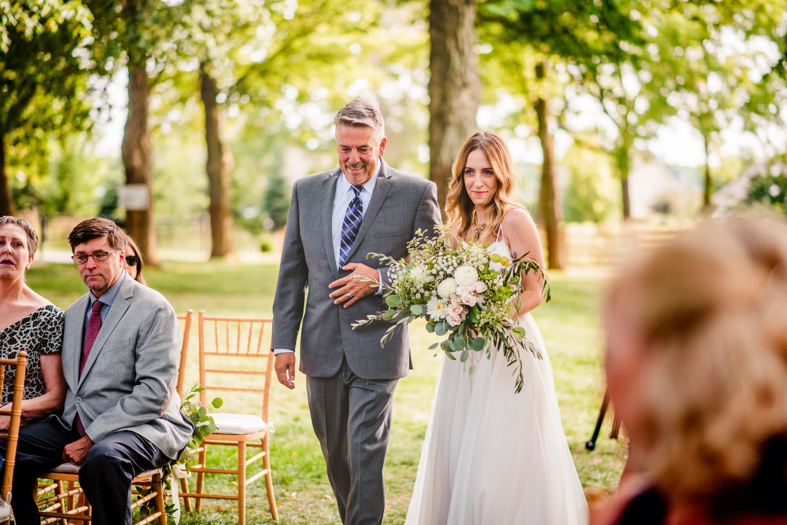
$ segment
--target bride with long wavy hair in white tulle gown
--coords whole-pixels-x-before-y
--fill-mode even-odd
[[[506,257],[543,264],[538,230],[516,205],[518,176],[500,136],[476,133],[453,165],[445,204],[455,243],[482,242]],[[416,486],[405,525],[575,525],[587,504],[557,405],[552,365],[530,315],[541,304],[541,279],[523,279],[515,324],[544,357],[528,351],[524,386],[515,394],[502,351],[471,352],[466,364],[443,358]],[[467,363],[469,365],[470,363]]]

